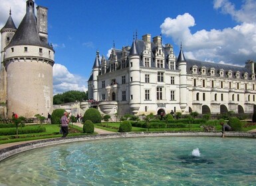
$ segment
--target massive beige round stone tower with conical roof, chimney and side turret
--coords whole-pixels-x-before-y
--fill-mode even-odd
[[[7,82],[1,90],[6,90],[8,118],[11,118],[12,112],[28,118],[35,114],[47,116],[53,111],[55,50],[48,43],[47,8],[37,7],[35,17],[35,3],[28,0],[26,10],[16,31],[13,27],[6,33],[6,25],[1,29],[1,76],[3,74],[3,82]],[[3,42],[8,41],[7,37],[9,42]]]

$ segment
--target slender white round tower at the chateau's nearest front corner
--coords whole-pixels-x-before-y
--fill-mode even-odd
[[[140,55],[136,42],[132,43],[129,53],[130,109],[137,114],[140,109]]]

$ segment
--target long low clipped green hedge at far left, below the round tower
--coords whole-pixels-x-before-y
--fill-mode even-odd
[[[46,128],[42,126],[26,126],[25,128],[18,128],[18,134],[31,134],[46,132]],[[0,130],[0,136],[16,135],[16,128],[3,128]]]

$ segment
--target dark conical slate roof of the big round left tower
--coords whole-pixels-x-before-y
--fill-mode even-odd
[[[33,1],[31,2],[34,3]],[[8,46],[15,45],[35,45],[51,48],[48,43],[41,41],[39,37],[34,7],[27,7],[27,13]]]

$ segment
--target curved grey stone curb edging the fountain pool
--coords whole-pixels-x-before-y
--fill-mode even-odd
[[[88,141],[111,138],[136,138],[136,137],[154,137],[154,136],[207,136],[207,137],[221,137],[221,132],[140,132],[140,133],[114,133],[114,134],[98,134],[87,136],[74,136],[67,138],[52,138],[39,141],[27,141],[19,145],[13,145],[4,149],[0,149],[0,161],[15,155],[17,153],[35,149],[39,147],[46,147],[49,145],[57,145],[61,143],[70,143],[75,141]],[[256,134],[243,132],[226,132],[225,137],[242,137],[242,138],[256,138]]]

